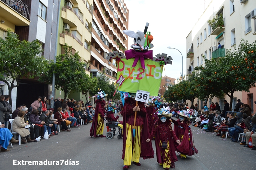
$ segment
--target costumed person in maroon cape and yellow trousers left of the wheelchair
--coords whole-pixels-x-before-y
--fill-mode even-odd
[[[105,94],[104,91],[101,91],[99,89],[95,108],[95,115],[93,118],[92,127],[90,129],[90,136],[92,137],[106,137],[103,135],[104,130],[104,117],[107,117],[105,115],[106,111],[104,109],[105,106],[105,97],[108,96],[108,94]],[[98,136],[99,135],[99,136]]]

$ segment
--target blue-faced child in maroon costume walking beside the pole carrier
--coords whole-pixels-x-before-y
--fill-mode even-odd
[[[178,159],[175,154],[174,141],[177,142],[178,145],[180,145],[181,142],[175,135],[171,127],[171,121],[169,121],[172,114],[162,113],[157,115],[159,116],[159,120],[156,121],[154,131],[146,142],[149,142],[155,137],[157,162],[159,165],[163,166],[163,169],[175,168],[174,162]]]

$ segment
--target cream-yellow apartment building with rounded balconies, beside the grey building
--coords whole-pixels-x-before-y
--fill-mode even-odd
[[[79,52],[81,61],[87,64],[86,73],[90,74],[93,0],[61,0],[59,39],[57,54],[63,54],[65,43],[72,46],[73,54]],[[55,90],[55,98],[64,98],[64,92]],[[88,94],[71,91],[69,98],[84,99]]]

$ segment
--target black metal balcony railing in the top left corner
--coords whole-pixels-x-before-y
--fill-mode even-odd
[[[30,8],[24,2],[20,0],[2,0],[2,2],[30,20]]]

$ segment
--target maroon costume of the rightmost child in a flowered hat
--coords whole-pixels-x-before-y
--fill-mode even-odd
[[[178,145],[175,144],[175,148],[177,152],[180,152],[181,154],[192,156],[195,153],[197,154],[198,151],[196,150],[194,143],[193,143],[193,135],[192,131],[189,125],[188,120],[185,118],[184,122],[181,123],[181,121],[178,119],[177,121],[171,119],[174,123],[174,132],[178,139],[181,141],[181,144]],[[181,136],[183,136],[181,140]],[[190,140],[189,140],[190,138]]]

